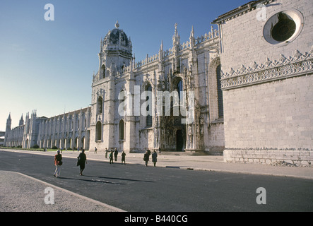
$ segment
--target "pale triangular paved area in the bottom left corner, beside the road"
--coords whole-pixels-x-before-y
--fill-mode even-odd
[[[0,212],[124,211],[18,172],[0,170],[0,189]]]

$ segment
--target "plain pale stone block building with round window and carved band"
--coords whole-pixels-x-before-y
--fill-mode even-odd
[[[312,12],[312,1],[254,1],[213,22],[223,37],[225,161],[313,160]],[[276,41],[267,27],[281,15],[295,31]]]

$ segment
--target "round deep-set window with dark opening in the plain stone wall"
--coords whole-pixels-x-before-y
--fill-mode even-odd
[[[263,35],[270,44],[286,44],[300,35],[302,26],[303,16],[299,11],[282,11],[266,21]]]

